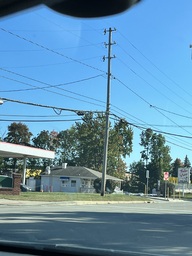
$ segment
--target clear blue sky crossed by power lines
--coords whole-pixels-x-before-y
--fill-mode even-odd
[[[1,18],[0,97],[105,111],[107,61],[102,59],[108,34],[103,32],[116,28],[111,112],[136,126],[184,136],[164,134],[173,160],[188,155],[192,161],[191,11],[191,0],[143,0],[107,18],[73,18],[44,6]],[[72,112],[57,115],[53,109],[5,102],[0,136],[13,120],[60,120],[23,121],[36,136],[41,130],[67,129],[76,119]],[[128,165],[140,159],[142,130],[133,131]]]

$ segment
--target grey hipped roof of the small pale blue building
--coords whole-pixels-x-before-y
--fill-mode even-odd
[[[98,171],[94,171],[92,169],[86,167],[79,166],[68,166],[66,168],[62,168],[61,166],[57,166],[51,169],[51,173],[49,176],[66,176],[66,177],[81,177],[81,178],[89,178],[89,179],[97,179],[102,177],[102,173]],[[43,175],[44,176],[44,175]],[[116,177],[106,175],[107,180],[115,180],[115,181],[123,181]]]

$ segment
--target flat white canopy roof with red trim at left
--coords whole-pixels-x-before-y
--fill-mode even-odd
[[[40,148],[22,146],[13,143],[0,142],[0,156],[11,158],[50,158],[55,157],[55,152]]]

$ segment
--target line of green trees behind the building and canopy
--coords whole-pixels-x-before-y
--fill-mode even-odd
[[[2,140],[9,143],[33,146],[45,150],[54,150],[54,160],[28,159],[27,167],[34,175],[36,170],[45,171],[47,166],[68,163],[69,166],[85,166],[102,171],[105,134],[105,115],[88,113],[82,121],[75,122],[69,129],[56,132],[43,130],[36,136],[23,123],[11,123]],[[126,180],[126,158],[133,151],[133,130],[123,119],[110,123],[107,174],[125,180],[124,189],[144,191],[146,170],[150,173],[150,189],[157,186],[158,180],[163,180],[163,172],[170,172],[177,177],[178,167],[190,165],[186,156],[184,163],[177,158],[172,162],[170,147],[166,145],[162,134],[146,129],[140,134],[142,151],[138,162],[130,165],[133,174]],[[19,159],[1,158],[0,170],[5,173],[10,170],[22,170]]]

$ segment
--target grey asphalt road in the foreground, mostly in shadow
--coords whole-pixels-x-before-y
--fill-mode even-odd
[[[0,240],[192,255],[192,202],[0,205]]]

